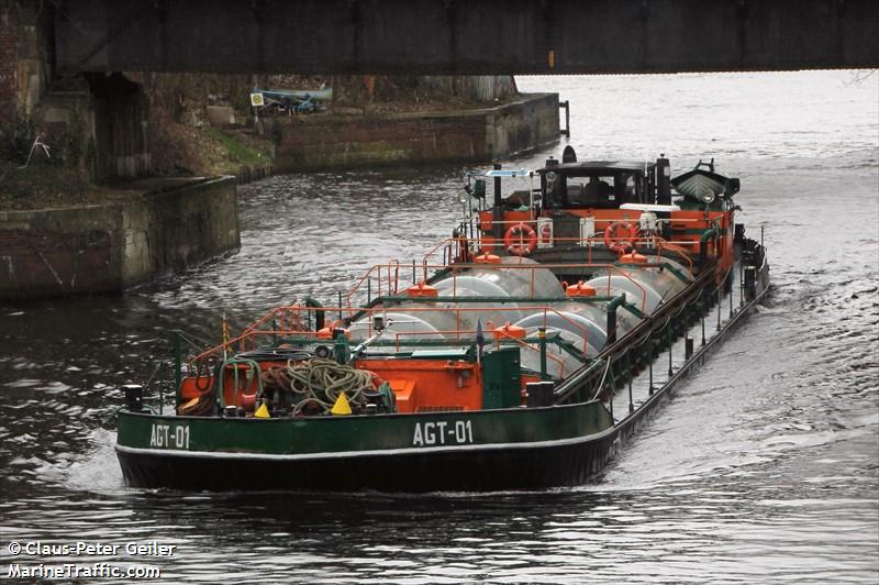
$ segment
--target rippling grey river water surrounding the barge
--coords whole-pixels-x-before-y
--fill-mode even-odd
[[[772,268],[765,306],[580,488],[122,484],[116,388],[154,375],[167,330],[218,341],[224,311],[243,324],[302,294],[330,302],[369,264],[420,257],[449,233],[458,167],[272,177],[240,190],[234,255],[123,297],[0,306],[0,578],[105,561],[157,566],[162,583],[879,582],[879,73],[865,75],[519,79],[571,100],[580,158],[663,152],[678,173],[716,157]],[[34,541],[123,548],[10,547]],[[177,548],[124,553],[152,541]],[[99,582],[124,580],[81,581]]]

